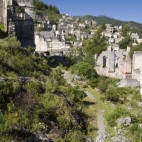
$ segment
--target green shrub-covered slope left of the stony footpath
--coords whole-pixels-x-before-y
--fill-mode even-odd
[[[0,42],[1,141],[39,140],[39,132],[54,141],[86,141],[93,128],[83,109],[84,92],[70,87],[60,67],[50,68],[47,57],[22,48],[17,39]]]

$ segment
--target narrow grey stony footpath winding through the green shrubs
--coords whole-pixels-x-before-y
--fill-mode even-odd
[[[71,82],[70,73],[68,71],[63,71],[63,73],[67,83],[70,84],[72,87],[74,87],[75,85]],[[84,91],[84,93],[88,96],[88,98],[92,102],[95,102],[95,98],[90,92]],[[94,139],[94,142],[105,142],[106,139],[106,130],[105,130],[103,113],[104,110],[98,108],[97,111],[98,136]]]

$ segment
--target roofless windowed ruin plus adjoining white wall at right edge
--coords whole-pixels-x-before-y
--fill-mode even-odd
[[[128,51],[103,51],[95,56],[99,75],[121,79],[118,87],[139,88],[142,94],[142,51],[135,51],[133,60]]]

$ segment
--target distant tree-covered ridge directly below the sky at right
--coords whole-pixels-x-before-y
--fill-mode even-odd
[[[137,32],[140,37],[142,37],[142,24],[141,23],[137,23],[134,21],[121,21],[121,20],[117,20],[114,18],[110,18],[104,15],[101,16],[91,16],[91,15],[85,15],[85,16],[77,16],[80,17],[81,19],[84,20],[95,20],[97,22],[97,25],[102,25],[103,23],[106,24],[113,24],[115,26],[124,26],[126,24],[128,24],[131,28],[131,32]]]

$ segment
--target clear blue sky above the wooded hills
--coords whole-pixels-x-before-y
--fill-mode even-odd
[[[43,0],[55,5],[61,14],[105,15],[123,21],[142,23],[142,0]]]

